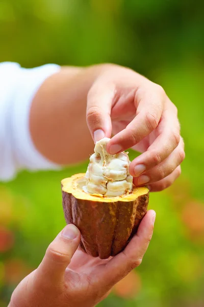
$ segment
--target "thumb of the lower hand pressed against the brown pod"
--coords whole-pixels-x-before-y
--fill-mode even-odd
[[[64,278],[66,267],[80,244],[80,231],[72,224],[67,225],[48,246],[36,274],[39,280],[59,283]]]

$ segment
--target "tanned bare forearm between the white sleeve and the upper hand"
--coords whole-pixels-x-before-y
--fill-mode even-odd
[[[70,164],[83,161],[93,151],[86,123],[88,91],[104,69],[64,67],[47,78],[35,95],[30,113],[31,137],[50,161]]]

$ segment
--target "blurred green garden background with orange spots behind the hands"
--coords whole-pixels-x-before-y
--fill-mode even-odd
[[[0,1],[0,62],[126,65],[161,84],[179,109],[182,176],[150,194],[149,249],[101,307],[204,306],[203,9],[193,0]],[[0,307],[65,225],[61,179],[86,167],[22,172],[0,185]]]

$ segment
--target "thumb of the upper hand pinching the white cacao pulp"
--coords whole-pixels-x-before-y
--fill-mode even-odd
[[[114,86],[98,83],[95,83],[88,93],[86,119],[94,143],[104,137],[111,137],[111,108],[114,95]]]

